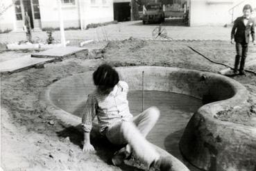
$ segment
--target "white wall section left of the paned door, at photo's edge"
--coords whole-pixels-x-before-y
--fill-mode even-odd
[[[1,5],[4,4],[4,6],[9,6],[11,3],[10,0],[1,0]],[[0,30],[15,30],[15,21],[15,8],[11,6],[0,16]]]

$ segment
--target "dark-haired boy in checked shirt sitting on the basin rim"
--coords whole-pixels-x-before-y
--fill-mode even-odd
[[[160,111],[156,107],[150,107],[133,117],[128,107],[128,84],[120,81],[117,71],[107,64],[94,71],[93,80],[96,90],[87,98],[82,119],[83,151],[94,150],[89,140],[89,132],[92,129],[92,120],[97,116],[101,134],[111,143],[124,146],[112,157],[114,165],[123,163],[133,152],[148,167],[171,171],[171,161],[160,156],[145,138],[157,122]]]

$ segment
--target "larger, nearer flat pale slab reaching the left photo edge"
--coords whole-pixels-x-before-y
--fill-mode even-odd
[[[28,68],[35,66],[36,64],[45,64],[48,62],[53,62],[54,58],[37,58],[37,57],[30,57],[24,56],[19,57],[14,60],[8,60],[4,62],[0,62],[0,72],[17,72],[22,71]]]

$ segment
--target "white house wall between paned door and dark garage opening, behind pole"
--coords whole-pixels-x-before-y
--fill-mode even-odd
[[[40,13],[42,28],[59,27],[57,1],[40,0]],[[62,3],[62,15],[65,28],[80,28],[80,24],[86,28],[87,24],[113,21],[113,1],[105,0],[103,3],[103,0],[95,0],[95,3],[92,4],[90,0],[76,0],[75,4]]]

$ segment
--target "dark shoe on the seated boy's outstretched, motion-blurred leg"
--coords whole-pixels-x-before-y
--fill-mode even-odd
[[[160,159],[153,161],[149,170],[172,171],[173,164],[167,156],[160,156]]]

